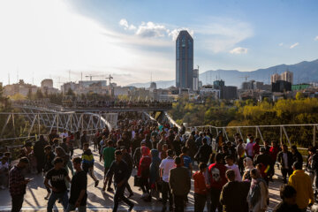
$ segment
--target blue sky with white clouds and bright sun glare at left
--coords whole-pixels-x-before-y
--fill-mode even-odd
[[[300,0],[3,1],[0,80],[6,84],[10,73],[15,81],[19,72],[36,84],[66,81],[68,70],[73,80],[111,73],[119,85],[146,82],[151,73],[175,79],[181,29],[193,34],[200,72],[311,61],[318,58],[317,11],[317,1]]]

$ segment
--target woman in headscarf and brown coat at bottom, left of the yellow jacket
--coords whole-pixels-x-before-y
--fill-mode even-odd
[[[265,212],[269,205],[269,188],[257,169],[250,171],[251,187],[247,195],[248,211]]]

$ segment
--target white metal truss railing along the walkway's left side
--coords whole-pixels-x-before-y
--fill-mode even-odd
[[[79,130],[95,132],[117,125],[117,113],[31,112],[0,113],[0,145],[19,143],[47,134],[52,129],[75,133]]]

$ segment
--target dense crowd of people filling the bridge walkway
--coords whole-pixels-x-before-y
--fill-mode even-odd
[[[82,149],[82,155],[74,155],[74,148]],[[103,163],[103,178],[95,176],[94,153]],[[34,144],[27,142],[14,166],[10,153],[1,154],[0,183],[3,189],[9,186],[11,211],[22,207],[26,186],[32,180],[24,177],[29,171],[44,173],[48,211],[56,201],[65,211],[86,211],[88,175],[95,187],[101,181],[103,192],[114,192],[113,211],[121,201],[128,205],[128,211],[133,209],[131,186],[140,187],[140,201],[161,201],[162,211],[184,211],[193,179],[195,212],[204,208],[211,212],[264,212],[269,207],[269,184],[276,164],[283,178],[282,201],[274,211],[306,211],[315,201],[313,185],[318,188],[318,179],[314,178],[318,174],[316,148],[308,148],[305,171],[296,146],[289,151],[276,141],[271,145],[265,141],[261,146],[260,139],[252,134],[246,142],[239,134],[229,141],[223,133],[213,136],[208,129],[186,133],[184,125],[178,128],[123,118],[117,129],[98,130],[94,136],[86,131],[58,134],[52,130],[48,139],[40,136]],[[131,177],[133,185],[129,183]]]

